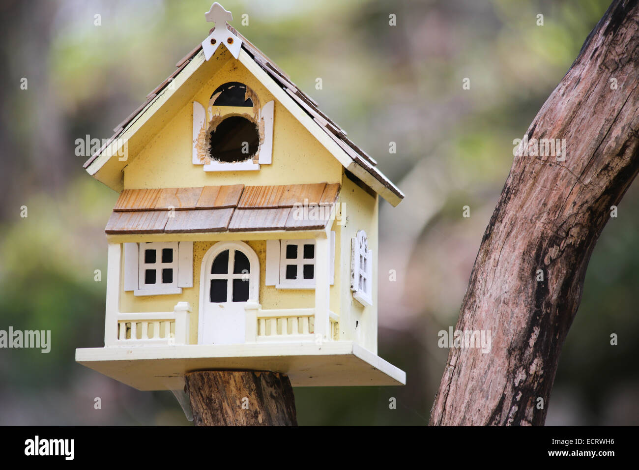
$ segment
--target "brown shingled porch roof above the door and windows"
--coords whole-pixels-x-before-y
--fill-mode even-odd
[[[326,230],[339,184],[125,189],[106,233]],[[295,207],[313,217],[300,217]],[[167,209],[174,208],[174,211]]]

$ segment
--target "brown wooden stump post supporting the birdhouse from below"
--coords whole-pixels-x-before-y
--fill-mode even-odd
[[[185,381],[196,426],[297,426],[286,375],[206,370]]]

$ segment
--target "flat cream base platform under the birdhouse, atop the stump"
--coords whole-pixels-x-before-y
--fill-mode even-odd
[[[138,390],[180,390],[197,370],[268,370],[294,387],[406,384],[406,373],[352,341],[76,349],[75,360]]]

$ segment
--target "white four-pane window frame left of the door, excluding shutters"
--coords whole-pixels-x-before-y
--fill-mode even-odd
[[[155,263],[146,263],[146,250],[155,249]],[[171,263],[162,263],[162,250],[173,249],[173,260]],[[138,286],[134,290],[134,295],[171,295],[181,294],[182,288],[178,287],[178,242],[147,242],[139,244],[138,259]],[[155,269],[155,284],[146,284],[146,270]],[[162,269],[173,269],[173,281],[169,284],[162,283]]]

